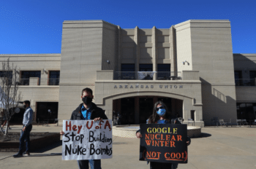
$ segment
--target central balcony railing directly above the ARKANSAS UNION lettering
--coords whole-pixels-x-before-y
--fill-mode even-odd
[[[114,72],[114,79],[126,80],[152,80],[157,76],[157,80],[177,80],[181,79],[181,72],[171,71],[116,71]]]

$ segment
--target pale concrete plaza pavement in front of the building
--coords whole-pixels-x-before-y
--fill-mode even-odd
[[[20,126],[11,126],[19,131]],[[33,132],[59,132],[61,127],[34,126]],[[188,163],[178,168],[255,168],[256,169],[256,127],[204,127],[203,138],[192,138],[188,147]],[[137,138],[113,136],[113,158],[102,160],[102,169],[149,168],[146,162],[139,161]],[[61,146],[42,154],[61,153]],[[61,156],[13,158],[13,153],[0,152],[1,168],[78,168],[77,162],[63,161]],[[31,153],[40,154],[40,153]]]

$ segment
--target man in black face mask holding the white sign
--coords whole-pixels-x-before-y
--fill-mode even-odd
[[[95,103],[92,103],[94,95],[92,95],[92,90],[90,88],[85,88],[82,90],[82,101],[77,109],[72,112],[71,120],[81,120],[81,119],[94,119],[94,121],[100,119],[108,119],[105,115],[105,112],[96,106]],[[61,135],[64,135],[64,132],[61,131]],[[101,169],[100,160],[78,160],[79,168],[89,169],[89,163],[91,169]]]

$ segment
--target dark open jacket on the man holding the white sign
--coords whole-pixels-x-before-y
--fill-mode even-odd
[[[82,106],[83,103],[80,103],[78,108],[72,112],[70,119],[83,119],[83,114],[81,113]],[[97,107],[95,103],[91,103],[91,119],[95,119],[97,117],[100,117],[102,119],[108,119],[104,110]]]

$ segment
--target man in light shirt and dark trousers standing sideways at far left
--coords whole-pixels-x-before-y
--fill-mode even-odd
[[[30,101],[24,101],[24,108],[25,112],[23,115],[23,129],[20,133],[20,147],[19,147],[19,152],[13,157],[23,157],[24,156],[29,156],[30,155],[30,132],[32,130],[32,119],[33,119],[33,110],[30,107]],[[26,141],[26,151],[23,153],[23,145],[24,141]]]

